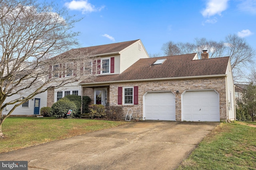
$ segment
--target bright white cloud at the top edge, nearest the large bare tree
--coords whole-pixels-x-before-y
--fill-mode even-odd
[[[104,6],[100,8],[95,8],[94,5],[90,4],[88,0],[72,0],[71,2],[66,2],[65,6],[70,10],[79,10],[82,11],[83,14],[87,12],[96,12],[100,11],[104,8]]]

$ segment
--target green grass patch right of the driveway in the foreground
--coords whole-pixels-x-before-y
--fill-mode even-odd
[[[255,126],[253,122],[222,123],[204,138],[178,170],[255,170]]]

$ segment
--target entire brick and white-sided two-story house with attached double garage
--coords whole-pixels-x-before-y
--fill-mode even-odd
[[[202,59],[196,53],[149,58],[140,40],[78,51],[94,51],[90,55],[90,75],[94,78],[48,90],[48,106],[68,94],[82,94],[89,96],[92,104],[123,107],[124,117],[132,109],[133,118],[139,120],[236,119],[229,57],[209,59],[204,51]],[[75,73],[71,69],[51,76]]]

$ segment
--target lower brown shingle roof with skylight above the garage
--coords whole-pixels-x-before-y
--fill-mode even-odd
[[[107,82],[164,80],[170,78],[186,78],[192,76],[216,76],[226,74],[229,57],[193,60],[196,53],[140,59],[121,74],[97,76],[94,82],[80,84],[100,84]],[[153,65],[158,59],[166,59],[164,63]]]

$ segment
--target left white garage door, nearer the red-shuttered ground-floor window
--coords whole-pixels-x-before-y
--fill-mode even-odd
[[[146,94],[145,119],[175,121],[175,95],[172,92],[149,92]]]

